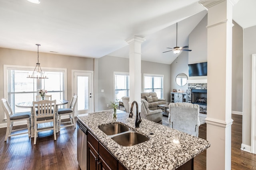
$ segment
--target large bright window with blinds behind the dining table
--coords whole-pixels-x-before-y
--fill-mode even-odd
[[[8,98],[14,113],[30,111],[15,104],[36,100],[38,89],[47,90],[52,100],[66,99],[66,68],[44,69],[48,79],[27,78],[31,70],[34,67],[4,65],[4,98]]]

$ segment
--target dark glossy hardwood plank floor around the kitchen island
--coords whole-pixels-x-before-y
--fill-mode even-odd
[[[256,154],[240,150],[242,116],[232,115],[232,170],[256,170]],[[0,169],[3,170],[80,170],[76,160],[76,129],[62,128],[54,141],[51,131],[42,132],[33,145],[28,135],[10,137],[4,142],[6,128],[0,128]],[[206,139],[206,124],[199,137]],[[194,159],[194,170],[206,170],[206,151]]]

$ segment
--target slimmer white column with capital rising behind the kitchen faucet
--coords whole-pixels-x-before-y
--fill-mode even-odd
[[[130,100],[129,110],[132,102],[135,100],[138,103],[138,111],[141,109],[140,93],[141,93],[141,43],[145,39],[140,37],[132,37],[127,39],[129,44],[129,86],[130,86]],[[136,108],[134,106],[134,108]],[[136,113],[136,112],[135,112]]]

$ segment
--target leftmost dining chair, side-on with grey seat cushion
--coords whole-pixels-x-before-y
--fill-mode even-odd
[[[22,134],[26,134],[26,133],[28,133],[28,137],[30,137],[30,135],[31,135],[30,114],[31,113],[30,112],[13,113],[12,108],[11,108],[7,99],[1,99],[1,105],[4,109],[4,112],[5,112],[6,118],[7,118],[7,128],[6,128],[6,135],[5,135],[4,141],[7,141],[8,137],[11,137],[11,136],[14,136],[14,135],[22,135]],[[26,119],[26,121],[27,121],[27,126],[28,126],[27,128],[12,130],[14,121],[21,121],[21,120],[24,120],[24,119]],[[22,129],[28,129],[28,132],[11,134],[14,131],[19,131],[19,130],[22,130]]]

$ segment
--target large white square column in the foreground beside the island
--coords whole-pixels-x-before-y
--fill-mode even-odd
[[[232,0],[200,0],[208,9],[207,170],[231,169]]]

